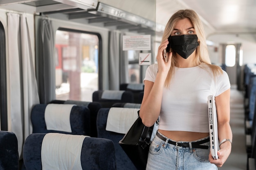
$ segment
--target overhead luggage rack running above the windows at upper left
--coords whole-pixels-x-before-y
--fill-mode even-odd
[[[16,8],[17,3],[19,3],[19,8]],[[20,4],[24,5],[24,8],[21,9]],[[126,29],[145,34],[162,33],[164,31],[164,26],[156,24],[153,20],[97,0],[2,0],[0,7],[38,13],[51,18],[59,17],[59,15],[54,14],[61,14],[74,22],[85,19],[91,25],[100,24],[103,27],[115,27],[119,30]]]

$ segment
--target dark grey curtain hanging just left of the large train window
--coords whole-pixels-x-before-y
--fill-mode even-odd
[[[49,103],[55,96],[55,53],[52,22],[40,19],[38,31],[38,90],[40,103]]]

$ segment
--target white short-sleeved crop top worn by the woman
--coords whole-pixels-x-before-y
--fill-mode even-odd
[[[229,77],[213,77],[206,64],[189,68],[175,67],[170,86],[164,87],[159,129],[171,131],[209,132],[207,97],[218,96],[230,88]],[[158,65],[150,65],[144,81],[155,82]],[[208,71],[207,71],[208,70]]]

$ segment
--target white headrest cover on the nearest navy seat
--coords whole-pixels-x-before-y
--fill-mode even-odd
[[[81,149],[87,136],[47,133],[42,142],[43,170],[82,170]]]

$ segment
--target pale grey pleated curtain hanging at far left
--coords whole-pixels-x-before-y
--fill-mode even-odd
[[[23,143],[32,133],[30,112],[39,103],[39,97],[26,16],[7,13],[7,18],[10,73],[8,130],[17,136],[21,158]]]

